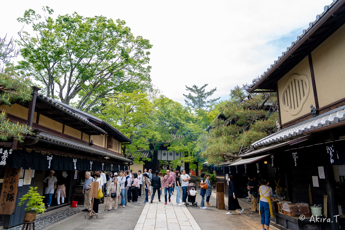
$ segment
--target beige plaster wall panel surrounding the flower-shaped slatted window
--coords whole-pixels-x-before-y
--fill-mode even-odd
[[[295,74],[295,75],[294,75]],[[284,92],[286,90],[286,87],[288,83],[290,82],[291,77],[296,76],[297,78],[304,78],[305,81],[308,84],[308,93],[306,93],[306,96],[304,98],[303,104],[299,104],[298,110],[285,110],[283,109],[283,97]],[[303,90],[306,91],[305,87]],[[287,74],[284,75],[281,79],[278,80],[278,94],[279,94],[279,103],[280,103],[280,116],[282,118],[282,124],[285,124],[289,121],[292,121],[298,117],[301,117],[307,113],[310,113],[310,105],[315,105],[314,100],[314,93],[313,93],[313,86],[312,86],[312,78],[310,73],[310,67],[309,67],[309,60],[308,56],[305,57],[302,61],[300,61],[294,68],[292,68]]]

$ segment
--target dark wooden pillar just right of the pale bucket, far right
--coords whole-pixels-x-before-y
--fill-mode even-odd
[[[336,209],[336,201],[335,201],[335,181],[334,181],[334,172],[333,167],[325,166],[325,180],[326,180],[326,190],[327,190],[327,206],[329,211],[329,217],[333,222],[331,222],[331,229],[332,230],[339,230],[338,223],[335,221],[336,215],[338,215]],[[339,218],[338,218],[339,219]]]

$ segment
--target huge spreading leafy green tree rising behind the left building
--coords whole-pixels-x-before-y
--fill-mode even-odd
[[[83,17],[77,12],[53,19],[29,9],[19,22],[32,26],[34,34],[19,32],[23,61],[19,69],[44,84],[47,96],[88,111],[100,99],[119,92],[151,88],[148,51],[152,45],[135,37],[126,22],[103,16]]]

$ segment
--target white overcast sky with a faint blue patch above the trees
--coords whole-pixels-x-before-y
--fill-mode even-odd
[[[247,1],[3,1],[0,37],[17,38],[24,10],[84,17],[103,15],[127,22],[135,36],[149,39],[152,83],[184,104],[186,85],[217,87],[228,98],[236,85],[251,83],[291,46],[331,0]]]

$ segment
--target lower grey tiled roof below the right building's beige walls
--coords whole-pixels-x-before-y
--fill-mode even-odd
[[[345,120],[345,106],[331,110],[314,118],[300,122],[288,128],[282,129],[268,137],[265,137],[252,144],[254,148],[268,146],[273,143],[281,143],[290,139],[299,138],[303,132],[316,128],[321,128],[329,124]]]

